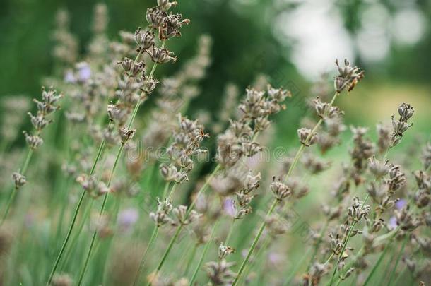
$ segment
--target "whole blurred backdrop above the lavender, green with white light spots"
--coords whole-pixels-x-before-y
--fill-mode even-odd
[[[69,11],[71,32],[83,54],[98,2],[1,0],[0,96],[39,93],[42,78],[54,66],[52,31],[59,8]],[[153,2],[105,1],[110,38],[117,38],[119,30],[146,25],[144,14]],[[417,110],[416,131],[430,133],[431,1],[179,0],[179,5],[191,25],[170,46],[179,62],[158,73],[180,68],[194,54],[199,35],[211,35],[213,64],[201,84],[202,94],[192,102],[194,109],[213,110],[226,83],[246,88],[260,73],[273,85],[292,89],[296,97],[314,96],[311,83],[321,73],[329,72],[331,78],[335,59],[348,57],[366,71],[355,93],[340,100],[348,124],[389,121],[396,106],[406,101]],[[276,120],[281,122],[278,129],[295,134],[302,111],[295,105],[283,112]]]

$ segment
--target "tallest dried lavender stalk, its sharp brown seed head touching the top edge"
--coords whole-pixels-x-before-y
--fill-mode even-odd
[[[136,131],[136,129],[131,129],[131,127],[134,124],[134,120],[136,118],[136,114],[138,113],[138,109],[141,106],[141,102],[146,100],[147,95],[153,92],[156,84],[158,83],[158,81],[154,78],[155,69],[157,68],[158,64],[165,64],[169,61],[175,62],[177,60],[177,58],[173,56],[173,53],[169,52],[165,48],[165,44],[170,38],[181,35],[179,29],[182,27],[182,25],[188,24],[189,20],[182,20],[182,16],[180,14],[167,14],[167,11],[171,8],[172,4],[176,5],[177,3],[159,0],[158,6],[148,9],[146,13],[146,19],[149,23],[148,30],[143,32],[141,28],[138,28],[135,33],[135,41],[138,44],[138,55],[146,52],[150,56],[150,59],[154,62],[153,68],[151,68],[149,75],[146,76],[145,74],[146,64],[144,64],[143,61],[137,62],[138,56],[136,56],[135,61],[125,58],[123,61],[119,62],[126,73],[126,78],[124,78],[126,86],[119,94],[119,99],[122,100],[122,102],[115,106],[109,105],[108,114],[112,121],[117,121],[119,124],[121,145],[117,151],[114,165],[112,166],[112,170],[110,172],[110,179],[106,185],[107,192],[103,197],[100,215],[102,215],[102,213],[105,211],[107,198],[110,193],[109,188],[112,178],[114,177],[114,172],[117,169],[119,158],[121,157],[124,150],[124,144],[126,144],[131,139],[131,137],[134,136]],[[162,41],[160,47],[155,47],[155,34],[153,31],[158,31],[158,37]],[[141,78],[138,78],[138,76],[141,76]],[[129,93],[126,91],[126,88],[131,89]],[[135,90],[141,90],[141,94],[138,96],[135,95]],[[131,113],[129,124],[127,124],[127,126],[121,127],[122,123],[124,122],[124,114],[127,114],[128,106],[133,102],[136,102],[136,104],[134,106],[133,112]],[[95,230],[90,242],[90,248],[88,249],[88,253],[85,258],[85,263],[79,276],[78,285],[81,285],[83,282],[97,235],[98,230]]]

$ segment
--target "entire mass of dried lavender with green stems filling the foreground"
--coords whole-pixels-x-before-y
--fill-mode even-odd
[[[96,5],[85,53],[59,11],[45,83],[65,96],[61,109],[52,89],[33,100],[28,155],[13,190],[0,193],[0,284],[430,282],[431,145],[420,153],[404,140],[420,109],[401,103],[376,133],[365,121],[347,128],[336,100],[351,100],[364,78],[347,60],[336,61],[332,97],[325,78],[310,90],[296,134],[278,126],[292,124],[282,111],[302,100],[273,88],[271,76],[259,75],[242,98],[231,78],[219,110],[196,109],[211,77],[210,36],[175,73],[156,76],[177,61],[167,44],[189,24],[175,6],[158,0],[145,28],[111,40],[107,6]],[[19,113],[29,106],[20,97],[2,103],[4,171],[16,162]],[[300,145],[275,146],[278,137]],[[37,161],[47,167],[33,162],[42,143],[49,152]],[[32,190],[16,200],[27,181]]]

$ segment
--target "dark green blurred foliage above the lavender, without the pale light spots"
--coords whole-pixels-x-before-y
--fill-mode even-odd
[[[119,30],[134,31],[138,25],[146,25],[144,13],[154,0],[107,0],[110,13],[109,36],[116,38]],[[25,94],[33,96],[40,90],[43,77],[52,73],[52,30],[54,16],[59,8],[71,14],[71,32],[80,40],[84,53],[91,39],[91,23],[95,0],[3,0],[0,4],[0,96]],[[309,83],[300,76],[289,60],[288,47],[278,42],[274,35],[273,20],[279,13],[294,9],[302,1],[267,0],[201,0],[179,1],[181,11],[192,23],[184,29],[180,40],[170,47],[179,54],[179,63],[158,70],[159,75],[169,75],[182,66],[195,52],[199,35],[207,33],[214,40],[213,64],[201,84],[202,94],[193,107],[205,107],[213,111],[218,107],[226,83],[233,82],[240,89],[251,85],[257,75],[265,73],[274,85],[295,89],[295,95],[309,96]],[[354,35],[360,28],[360,12],[376,1],[338,0],[333,5],[341,11],[346,29]],[[389,13],[399,1],[383,0]],[[407,1],[406,1],[407,2]],[[412,1],[408,1],[412,2]],[[430,86],[431,59],[431,4],[418,0],[415,5],[425,14],[425,35],[413,46],[393,44],[384,61],[370,64],[356,59],[367,71],[365,85],[379,87],[382,83],[397,82]],[[399,3],[398,3],[399,4]],[[287,49],[287,50],[286,50]],[[292,86],[293,85],[293,86]],[[420,87],[419,87],[420,88]],[[366,88],[370,91],[370,88]],[[413,90],[411,90],[414,92]],[[423,89],[429,97],[429,88]],[[390,94],[383,93],[391,96]],[[359,95],[358,95],[359,96]],[[361,95],[362,96],[362,95]],[[362,97],[361,97],[362,98]],[[209,103],[208,103],[209,102]],[[394,103],[394,105],[399,102]],[[429,103],[426,101],[425,103]],[[353,110],[354,111],[354,110]],[[295,131],[301,110],[283,114],[279,124],[286,133]],[[287,112],[286,112],[287,113]],[[348,117],[350,113],[346,112]],[[351,114],[353,117],[355,112]],[[349,118],[348,118],[349,121]],[[355,120],[353,121],[355,122]]]

